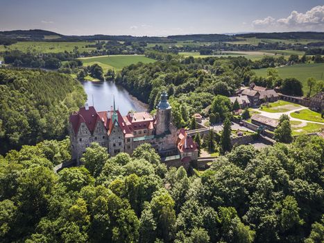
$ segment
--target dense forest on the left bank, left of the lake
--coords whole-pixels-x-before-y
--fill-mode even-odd
[[[73,78],[27,69],[0,69],[0,97],[0,154],[64,138],[70,112],[86,99]]]

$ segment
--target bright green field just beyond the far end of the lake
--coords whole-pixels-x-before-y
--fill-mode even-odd
[[[155,62],[151,58],[146,56],[135,56],[135,55],[114,55],[114,56],[94,56],[89,58],[79,58],[84,66],[91,66],[95,63],[103,68],[103,72],[107,72],[108,69],[114,69],[116,71],[121,70],[123,67],[128,65],[143,62],[150,63]]]

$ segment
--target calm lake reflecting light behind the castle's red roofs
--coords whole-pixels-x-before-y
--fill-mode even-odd
[[[87,93],[87,103],[94,105],[96,111],[110,110],[116,103],[121,115],[127,115],[128,111],[145,111],[148,106],[130,95],[120,85],[110,81],[83,81],[81,82]],[[93,102],[92,102],[93,97]]]

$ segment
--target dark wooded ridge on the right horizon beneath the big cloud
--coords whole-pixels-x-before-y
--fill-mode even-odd
[[[324,40],[324,32],[275,32],[275,33],[247,33],[235,35],[235,37],[256,37],[258,39],[312,39],[312,40]]]

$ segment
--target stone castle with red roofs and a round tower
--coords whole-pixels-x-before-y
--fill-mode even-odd
[[[197,144],[185,129],[177,131],[172,124],[167,98],[167,93],[163,92],[154,117],[148,112],[130,112],[123,117],[116,110],[115,103],[110,111],[99,112],[86,104],[69,117],[72,159],[80,165],[85,149],[92,142],[98,142],[107,148],[110,156],[121,152],[133,153],[137,146],[148,143],[163,161],[173,160],[175,166],[197,160]]]

